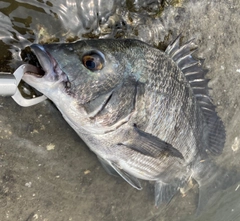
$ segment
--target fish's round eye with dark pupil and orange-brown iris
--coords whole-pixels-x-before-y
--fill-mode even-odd
[[[82,62],[90,71],[98,71],[103,68],[104,57],[98,52],[90,52],[82,57]]]

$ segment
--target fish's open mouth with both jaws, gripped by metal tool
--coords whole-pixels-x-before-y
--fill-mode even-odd
[[[68,82],[67,75],[59,68],[56,60],[43,45],[33,44],[30,48],[36,55],[44,74],[40,74],[36,67],[28,64],[24,70],[23,81],[47,97],[51,97],[51,94],[64,88]]]

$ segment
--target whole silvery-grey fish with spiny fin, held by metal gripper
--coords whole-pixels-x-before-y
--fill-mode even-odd
[[[56,105],[109,174],[138,190],[141,180],[155,183],[156,206],[193,179],[201,210],[228,177],[214,163],[226,132],[194,40],[180,42],[165,51],[136,39],[33,44],[43,71],[26,65],[23,80]]]

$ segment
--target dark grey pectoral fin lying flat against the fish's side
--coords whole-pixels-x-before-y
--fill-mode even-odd
[[[137,127],[133,127],[132,139],[119,143],[141,154],[154,158],[172,156],[183,159],[183,155],[171,144],[159,139],[152,134],[146,133]]]

